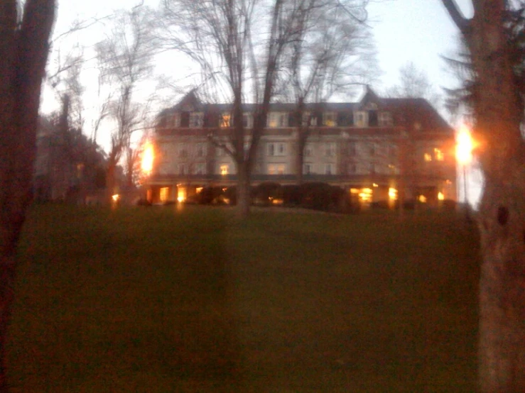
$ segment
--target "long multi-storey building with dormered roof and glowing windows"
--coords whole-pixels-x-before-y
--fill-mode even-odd
[[[253,108],[244,107],[247,128]],[[298,181],[295,111],[294,104],[271,104],[252,184]],[[363,204],[394,201],[399,189],[405,200],[456,199],[454,131],[428,101],[381,98],[367,88],[359,102],[310,104],[307,111],[303,182],[337,185]],[[181,201],[200,187],[236,184],[232,157],[210,136],[227,140],[230,119],[228,105],[204,104],[193,92],[163,110],[148,198]]]

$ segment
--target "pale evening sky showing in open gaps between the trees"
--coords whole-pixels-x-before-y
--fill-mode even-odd
[[[456,1],[465,16],[472,16],[471,0]],[[139,2],[62,0],[58,6],[55,34],[66,31],[75,17],[83,20],[102,17],[112,13],[112,10],[129,9]],[[155,7],[158,0],[144,0],[144,4]],[[407,62],[413,62],[418,69],[426,72],[438,94],[443,93],[441,87],[455,86],[455,79],[440,56],[454,52],[458,41],[458,30],[440,0],[371,0],[368,12],[368,24],[372,28],[378,65],[382,72],[377,82],[372,84],[378,92],[398,83],[399,68]],[[89,47],[102,38],[103,34],[103,27],[97,26],[97,28],[90,28],[87,34],[79,34],[75,39]],[[88,96],[89,93],[87,92],[86,95]],[[53,107],[52,101],[44,99],[44,111],[49,111]],[[446,115],[443,111],[442,114]],[[86,128],[89,127],[90,124],[87,123]],[[85,130],[85,133],[89,135],[90,131]],[[104,145],[102,140],[99,143]]]

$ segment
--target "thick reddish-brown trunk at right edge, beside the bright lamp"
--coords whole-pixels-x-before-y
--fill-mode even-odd
[[[472,58],[472,130],[485,189],[480,203],[480,387],[525,392],[525,141],[519,84],[505,30],[505,0],[472,0],[465,18],[442,0]]]

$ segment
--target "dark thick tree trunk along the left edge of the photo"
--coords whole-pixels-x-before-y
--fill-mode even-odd
[[[16,274],[16,246],[31,201],[40,88],[54,0],[0,1],[0,392],[7,392],[6,333]]]

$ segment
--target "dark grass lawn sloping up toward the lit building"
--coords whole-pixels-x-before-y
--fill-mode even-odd
[[[472,392],[479,245],[453,212],[37,206],[13,392]]]

